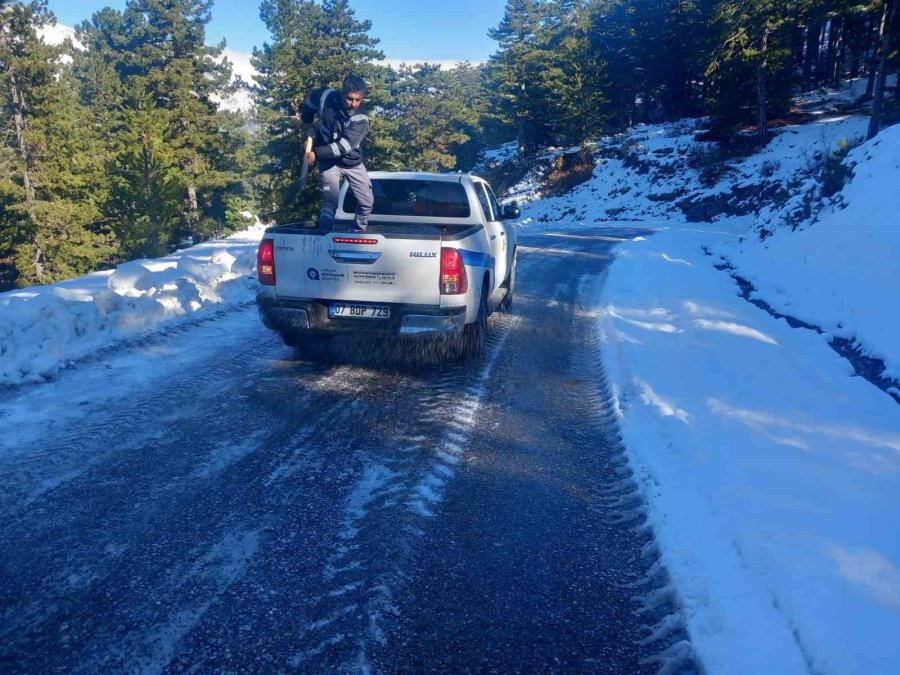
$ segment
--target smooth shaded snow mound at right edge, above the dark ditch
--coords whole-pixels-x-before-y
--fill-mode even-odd
[[[845,163],[854,176],[818,222],[717,250],[757,297],[856,340],[885,362],[885,375],[900,379],[900,125],[851,151]]]

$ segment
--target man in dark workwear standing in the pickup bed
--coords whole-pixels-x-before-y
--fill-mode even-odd
[[[322,87],[310,92],[303,102],[301,119],[311,124],[319,116],[313,149],[306,160],[318,163],[322,209],[319,227],[331,228],[337,210],[341,176],[350,183],[356,196],[354,232],[365,232],[372,212],[372,183],[363,164],[362,141],[369,131],[369,118],[359,111],[366,92],[366,82],[351,75],[341,91]]]

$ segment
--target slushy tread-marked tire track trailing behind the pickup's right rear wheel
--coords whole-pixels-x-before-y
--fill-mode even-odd
[[[366,457],[361,480],[344,505],[339,542],[322,571],[322,590],[297,634],[302,647],[288,661],[291,668],[372,668],[369,652],[386,643],[385,624],[396,615],[395,598],[410,578],[423,520],[435,517],[455,475],[515,319],[495,316],[491,324],[477,369],[447,369],[426,391],[416,390],[417,414],[394,420],[400,452]]]

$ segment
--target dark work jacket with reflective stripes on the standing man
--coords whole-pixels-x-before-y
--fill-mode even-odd
[[[303,102],[300,117],[304,124],[311,124],[316,114],[319,124],[313,150],[319,164],[323,168],[338,164],[348,169],[360,164],[369,118],[362,112],[351,117],[341,92],[326,87],[313,90]]]

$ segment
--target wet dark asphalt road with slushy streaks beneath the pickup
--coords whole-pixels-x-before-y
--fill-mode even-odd
[[[522,237],[468,364],[248,308],[0,394],[0,670],[695,670],[598,360],[637,234]]]

